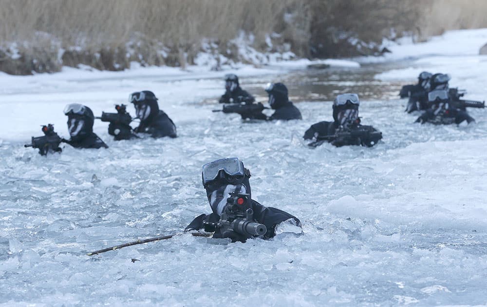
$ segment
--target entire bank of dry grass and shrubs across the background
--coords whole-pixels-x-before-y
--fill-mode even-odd
[[[184,66],[202,38],[222,52],[242,30],[261,50],[276,32],[299,56],[350,56],[357,50],[344,33],[365,43],[391,28],[424,38],[487,26],[486,9],[485,0],[0,0],[0,70],[26,74],[79,63],[117,70],[132,60]],[[6,60],[12,42],[21,58]],[[66,50],[62,59],[59,48]]]

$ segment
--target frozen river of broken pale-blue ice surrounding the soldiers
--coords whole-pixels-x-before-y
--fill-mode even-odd
[[[391,69],[409,71],[243,72],[260,101],[265,83],[283,80],[303,116],[263,123],[211,112],[225,72],[0,76],[0,305],[487,304],[487,113],[470,110],[468,127],[413,124],[396,95],[416,72],[375,77]],[[159,97],[178,138],[116,142],[96,122],[107,150],[65,146],[46,158],[22,146],[48,122],[66,137],[67,103],[100,114],[140,90]],[[343,92],[359,94],[362,122],[383,140],[307,148],[302,134],[332,118]],[[201,166],[229,156],[250,169],[254,199],[299,217],[304,234],[245,244],[183,234],[85,255],[178,232],[209,212]]]

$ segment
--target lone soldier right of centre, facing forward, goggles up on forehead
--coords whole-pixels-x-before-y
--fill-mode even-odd
[[[360,100],[357,94],[340,94],[333,101],[334,121],[320,121],[306,130],[303,138],[312,139],[308,144],[316,147],[324,142],[330,142],[337,147],[345,145],[361,145],[371,147],[382,138],[382,133],[372,126],[360,124],[358,106]]]

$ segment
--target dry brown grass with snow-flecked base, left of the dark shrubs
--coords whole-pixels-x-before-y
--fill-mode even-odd
[[[17,62],[36,58],[40,50],[51,54],[51,49],[60,47],[67,50],[63,62],[68,65],[84,63],[112,70],[125,68],[131,60],[153,65],[185,65],[200,49],[202,38],[212,38],[224,45],[242,30],[255,34],[256,46],[263,45],[265,34],[275,29],[281,30],[285,39],[303,44],[304,32],[296,25],[286,25],[282,18],[285,12],[299,15],[305,7],[302,3],[299,0],[0,0],[0,48],[17,42],[23,56]],[[132,58],[124,58],[128,47],[135,50]],[[161,55],[162,47],[169,51],[167,57]],[[30,69],[26,67],[23,73]],[[6,70],[5,63],[0,62],[0,70]],[[34,70],[42,71],[38,67]]]

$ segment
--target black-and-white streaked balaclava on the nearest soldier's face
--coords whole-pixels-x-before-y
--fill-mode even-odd
[[[221,215],[225,205],[226,199],[230,197],[230,192],[240,192],[249,194],[249,199],[252,198],[250,189],[250,172],[245,169],[244,177],[228,177],[224,171],[220,171],[217,179],[204,185],[206,196],[210,204],[211,210],[217,215]]]

